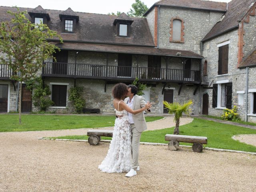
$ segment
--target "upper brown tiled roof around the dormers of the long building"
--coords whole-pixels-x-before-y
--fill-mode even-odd
[[[0,6],[0,22],[10,20],[11,17],[6,13],[7,10],[15,12],[16,8]],[[20,11],[24,10],[30,12],[33,9],[20,8]],[[131,36],[126,38],[116,35],[116,26],[113,25],[113,22],[118,16],[75,12],[79,16],[80,22],[76,24],[75,33],[68,34],[62,33],[59,15],[63,14],[63,11],[46,11],[50,15],[50,21],[47,22],[47,25],[51,30],[57,31],[63,40],[154,46],[146,18],[132,17],[134,22],[131,25]],[[27,17],[30,19],[29,15]]]

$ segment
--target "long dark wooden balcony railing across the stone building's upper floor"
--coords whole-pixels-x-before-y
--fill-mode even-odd
[[[45,62],[42,76],[96,78],[111,80],[133,80],[160,82],[200,82],[200,71],[148,67],[106,66],[92,64]]]

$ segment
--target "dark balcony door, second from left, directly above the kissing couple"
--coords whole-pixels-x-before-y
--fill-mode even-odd
[[[118,77],[131,77],[132,74],[132,55],[118,54]]]

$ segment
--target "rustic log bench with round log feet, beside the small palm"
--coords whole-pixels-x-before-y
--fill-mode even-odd
[[[180,143],[193,143],[192,149],[194,152],[202,152],[203,144],[207,144],[207,137],[189,136],[189,135],[172,135],[166,134],[165,140],[170,141],[168,144],[169,150],[178,150]]]

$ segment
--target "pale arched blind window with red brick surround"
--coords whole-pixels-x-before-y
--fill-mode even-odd
[[[184,42],[184,24],[182,19],[178,17],[171,19],[170,35],[170,42]]]

